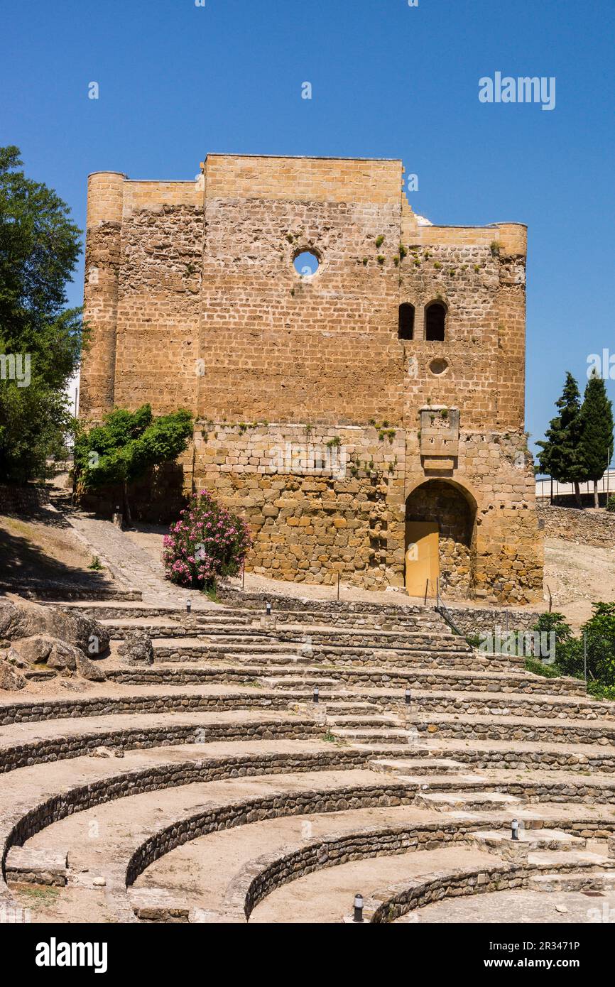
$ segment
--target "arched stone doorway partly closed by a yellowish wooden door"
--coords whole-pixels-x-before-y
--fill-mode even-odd
[[[465,597],[474,584],[476,501],[446,480],[426,480],[406,500],[406,588],[411,596]]]

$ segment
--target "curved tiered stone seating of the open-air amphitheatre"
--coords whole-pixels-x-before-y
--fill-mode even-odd
[[[342,922],[360,887],[378,923],[613,886],[615,708],[582,682],[422,607],[60,602],[112,653],[84,692],[0,701],[5,907],[36,884],[56,921]],[[117,654],[134,631],[150,666]]]

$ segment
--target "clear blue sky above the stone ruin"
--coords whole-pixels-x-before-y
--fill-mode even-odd
[[[583,387],[588,354],[615,354],[612,0],[2,0],[0,21],[0,142],[82,228],[92,171],[192,179],[208,151],[399,157],[432,222],[529,226],[533,439],[565,371]],[[555,110],[481,104],[497,71],[555,76]]]

